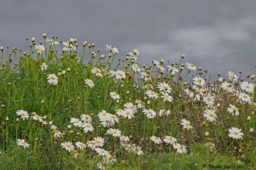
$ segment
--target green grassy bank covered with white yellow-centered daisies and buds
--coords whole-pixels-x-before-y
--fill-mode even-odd
[[[1,169],[255,168],[254,75],[210,81],[184,55],[140,67],[137,50],[116,59],[116,48],[46,34],[26,44],[1,48]]]

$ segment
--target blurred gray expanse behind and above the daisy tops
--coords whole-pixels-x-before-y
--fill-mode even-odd
[[[38,42],[46,32],[102,51],[116,46],[118,58],[138,48],[141,66],[185,54],[184,62],[212,75],[255,74],[255,9],[255,0],[8,0],[0,6],[0,46],[24,49],[26,37]]]

